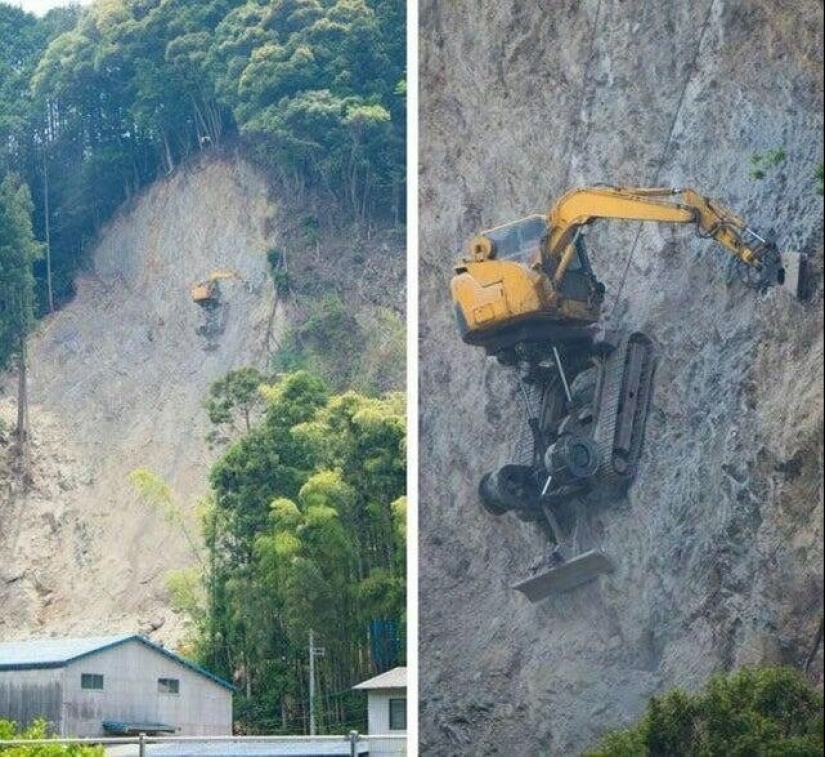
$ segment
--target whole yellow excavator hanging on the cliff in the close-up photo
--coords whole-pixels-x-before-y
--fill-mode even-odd
[[[513,511],[547,533],[548,555],[514,585],[531,601],[613,569],[600,550],[565,559],[560,547],[572,528],[578,552],[582,511],[623,496],[642,451],[655,354],[645,334],[599,323],[605,287],[582,231],[604,219],[694,224],[731,253],[749,286],[804,288],[804,256],[780,254],[770,236],[691,189],[574,189],[547,216],[470,240],[451,281],[458,329],[517,370],[529,428],[522,459],[486,474],[479,495],[489,512]]]

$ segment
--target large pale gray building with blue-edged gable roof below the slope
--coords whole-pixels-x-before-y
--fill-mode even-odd
[[[0,719],[62,736],[229,735],[233,690],[143,636],[0,642]]]

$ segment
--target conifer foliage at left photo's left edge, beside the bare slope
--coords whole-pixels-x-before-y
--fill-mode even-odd
[[[40,254],[28,187],[11,174],[0,183],[0,369],[20,354],[34,323],[32,264]]]

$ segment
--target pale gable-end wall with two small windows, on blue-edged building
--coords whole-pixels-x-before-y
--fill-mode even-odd
[[[103,675],[103,690],[80,687],[83,673]],[[158,678],[177,678],[178,694],[158,692]],[[175,726],[179,735],[232,732],[232,692],[138,641],[70,663],[63,670],[64,731],[103,734],[103,721]]]

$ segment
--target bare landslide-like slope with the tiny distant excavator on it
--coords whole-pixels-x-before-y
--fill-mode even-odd
[[[232,368],[267,367],[283,340],[293,306],[276,298],[267,251],[293,246],[302,207],[242,159],[214,156],[144,191],[100,235],[76,298],[31,341],[32,485],[0,475],[1,638],[142,630],[180,640],[164,579],[194,557],[180,525],[127,476],[142,466],[160,475],[197,535],[192,510],[218,454],[204,439],[203,399]],[[340,236],[321,228],[318,261],[328,237],[346,244]],[[399,290],[373,301],[400,300],[402,257],[366,261],[382,288]],[[215,268],[240,279],[220,283],[222,305],[207,314],[189,289]],[[377,289],[357,298],[365,318]]]

